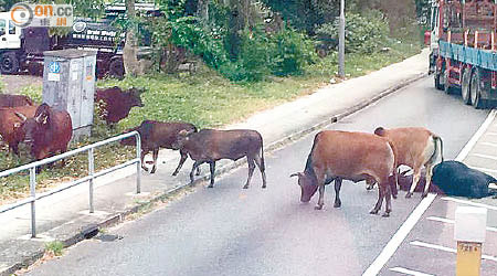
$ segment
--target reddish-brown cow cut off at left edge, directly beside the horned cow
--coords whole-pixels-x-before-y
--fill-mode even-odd
[[[35,106],[18,106],[18,107],[1,107],[0,108],[0,136],[3,141],[9,145],[9,150],[12,150],[19,156],[19,142],[22,138],[15,134],[15,127],[20,126],[22,119],[19,118],[15,113],[21,114],[23,117],[31,118],[36,110]]]

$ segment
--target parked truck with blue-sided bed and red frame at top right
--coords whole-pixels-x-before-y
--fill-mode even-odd
[[[497,1],[433,0],[430,73],[435,87],[475,108],[497,100]]]

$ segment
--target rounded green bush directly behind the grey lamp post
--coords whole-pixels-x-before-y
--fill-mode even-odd
[[[325,23],[316,31],[318,39],[325,45],[336,47],[338,42],[338,19],[334,23]],[[370,12],[366,15],[348,13],[346,21],[346,52],[372,53],[387,43],[389,34],[388,22],[381,12]]]

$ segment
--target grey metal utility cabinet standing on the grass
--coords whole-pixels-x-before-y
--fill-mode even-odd
[[[67,110],[73,138],[89,136],[93,125],[96,51],[66,49],[46,51],[43,70],[43,103]]]

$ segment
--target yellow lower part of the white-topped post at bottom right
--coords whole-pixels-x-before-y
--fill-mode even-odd
[[[457,276],[479,276],[482,266],[482,244],[457,242]]]

